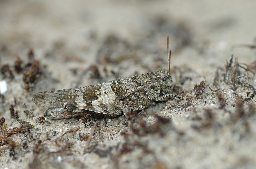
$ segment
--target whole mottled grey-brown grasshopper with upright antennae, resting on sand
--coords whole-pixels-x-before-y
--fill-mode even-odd
[[[142,112],[152,100],[174,96],[170,74],[169,37],[167,36],[168,70],[139,74],[90,86],[39,92],[33,97],[38,106],[47,107],[45,116],[70,118],[84,113],[115,117],[127,111]]]

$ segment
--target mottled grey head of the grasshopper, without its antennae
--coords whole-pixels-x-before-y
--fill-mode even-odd
[[[170,72],[164,68],[159,68],[156,72],[157,82],[160,85],[163,94],[170,94],[173,92],[173,80]]]

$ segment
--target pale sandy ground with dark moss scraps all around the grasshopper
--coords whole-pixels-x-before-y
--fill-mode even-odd
[[[1,0],[0,168],[255,168],[255,6]],[[32,102],[167,68],[167,35],[184,100],[87,121],[44,119]]]

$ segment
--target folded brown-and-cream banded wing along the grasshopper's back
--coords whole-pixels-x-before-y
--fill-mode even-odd
[[[102,104],[112,103],[115,99],[121,100],[142,89],[143,87],[137,82],[123,78],[79,88],[39,92],[33,97],[33,102],[48,108],[63,107],[65,104],[79,107],[87,106],[95,100]]]

